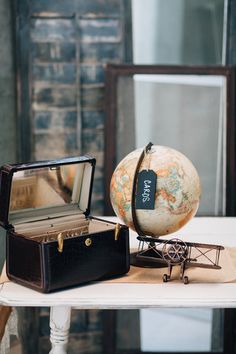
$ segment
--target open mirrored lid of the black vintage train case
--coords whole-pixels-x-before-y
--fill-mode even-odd
[[[5,228],[72,213],[90,213],[96,160],[89,156],[0,169],[0,224]]]

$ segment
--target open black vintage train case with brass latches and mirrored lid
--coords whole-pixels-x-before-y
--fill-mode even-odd
[[[2,166],[11,280],[48,293],[128,272],[128,228],[90,216],[94,169],[88,156]]]

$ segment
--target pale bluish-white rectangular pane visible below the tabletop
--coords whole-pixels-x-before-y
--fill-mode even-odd
[[[140,328],[145,352],[211,351],[211,309],[141,310]]]

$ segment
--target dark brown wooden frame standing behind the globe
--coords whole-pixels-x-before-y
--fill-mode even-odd
[[[108,64],[106,67],[106,122],[105,122],[105,215],[112,215],[109,184],[118,163],[116,156],[117,138],[117,86],[121,77],[144,75],[212,75],[226,79],[226,208],[225,215],[236,215],[236,171],[235,171],[235,70],[226,66],[166,66]]]

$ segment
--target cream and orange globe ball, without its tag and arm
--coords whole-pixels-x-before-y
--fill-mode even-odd
[[[132,151],[118,164],[110,184],[113,209],[133,230],[132,185],[142,151]],[[148,169],[157,175],[154,209],[136,209],[136,216],[142,232],[159,237],[179,230],[196,214],[201,194],[200,179],[185,155],[166,146],[151,147],[139,172]]]

